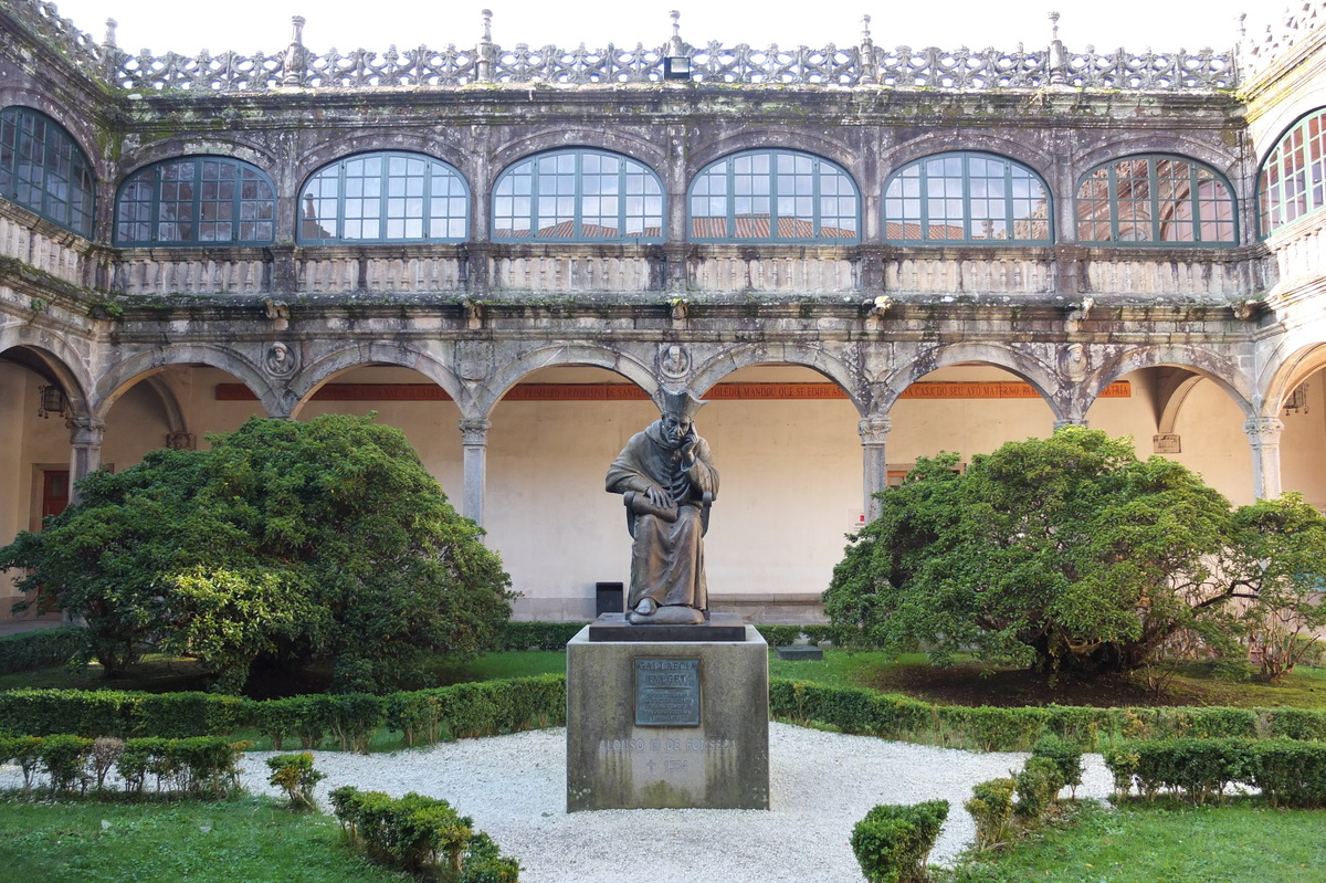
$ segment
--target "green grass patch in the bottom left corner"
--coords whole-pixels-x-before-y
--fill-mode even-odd
[[[0,866],[42,883],[406,883],[373,867],[321,813],[267,798],[215,803],[24,802],[0,797]]]

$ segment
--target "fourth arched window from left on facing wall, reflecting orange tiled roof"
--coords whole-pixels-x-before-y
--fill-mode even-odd
[[[861,195],[842,167],[792,150],[748,150],[691,182],[691,239],[700,243],[855,241]]]

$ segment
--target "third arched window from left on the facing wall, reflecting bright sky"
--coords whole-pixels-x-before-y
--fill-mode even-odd
[[[522,159],[493,188],[495,240],[663,240],[663,184],[654,170],[602,150]]]

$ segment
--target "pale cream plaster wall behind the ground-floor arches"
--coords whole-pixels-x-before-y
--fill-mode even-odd
[[[217,383],[229,374],[204,367],[172,369],[170,386],[179,395],[187,428],[199,445],[207,432],[237,428],[261,414],[257,402],[217,402]],[[1016,382],[989,366],[953,366],[924,381]],[[1148,375],[1122,379],[1132,384],[1127,399],[1099,399],[1087,412],[1091,427],[1131,435],[1139,455],[1148,456],[1155,408]],[[723,378],[725,382],[823,382],[808,369],[758,366]],[[423,375],[395,367],[362,367],[334,378],[337,383],[424,383]],[[623,383],[610,371],[583,367],[546,369],[524,378],[532,383]],[[37,464],[69,460],[69,431],[58,418],[36,418],[38,378],[16,365],[0,363],[0,530],[7,537],[32,526]],[[1326,449],[1326,383],[1310,382],[1306,415],[1285,418],[1286,489],[1326,500],[1326,477],[1317,467]],[[302,416],[325,412],[367,414],[395,426],[420,452],[426,467],[459,504],[463,452],[459,408],[451,402],[309,402]],[[621,499],[605,493],[607,464],[656,416],[638,402],[503,402],[492,412],[488,438],[487,529],[524,593],[521,618],[587,618],[594,583],[627,582],[630,540]],[[1044,436],[1052,428],[1041,399],[955,399],[898,402],[888,435],[891,465],[914,463],[940,449],[969,459],[1000,444]],[[697,420],[713,447],[723,476],[713,509],[707,557],[715,598],[732,595],[805,597],[825,589],[839,559],[843,534],[862,506],[862,449],[858,414],[847,400],[711,402]],[[1184,402],[1176,431],[1183,453],[1175,459],[1201,472],[1236,504],[1252,500],[1252,472],[1242,415],[1215,383],[1199,384]],[[103,461],[131,465],[159,445],[170,431],[160,399],[146,384],[129,390],[107,415]],[[17,456],[12,452],[19,451]],[[0,591],[4,591],[0,589]],[[8,603],[0,610],[5,617]]]

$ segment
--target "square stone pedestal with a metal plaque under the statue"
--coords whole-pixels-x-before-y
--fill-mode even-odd
[[[640,628],[648,628],[647,626]],[[769,809],[769,646],[566,644],[566,811]]]

